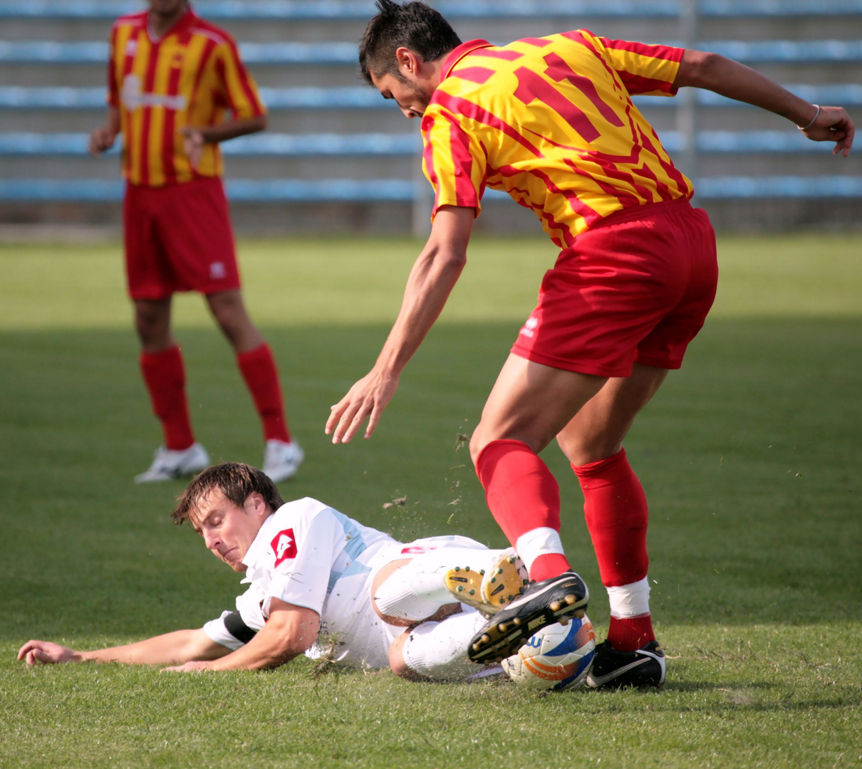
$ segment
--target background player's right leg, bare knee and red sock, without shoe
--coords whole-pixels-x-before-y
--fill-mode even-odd
[[[236,363],[260,416],[264,440],[290,442],[284,400],[272,350],[248,317],[239,288],[207,296],[215,322],[236,353]]]

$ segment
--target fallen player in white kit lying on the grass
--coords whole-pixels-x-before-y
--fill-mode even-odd
[[[399,543],[316,499],[284,504],[270,479],[235,462],[191,482],[172,512],[250,583],[201,629],[78,652],[29,641],[37,663],[114,661],[168,670],[278,667],[299,654],[350,667],[389,666],[412,680],[481,675],[467,645],[518,595],[526,570],[511,550],[465,536]]]

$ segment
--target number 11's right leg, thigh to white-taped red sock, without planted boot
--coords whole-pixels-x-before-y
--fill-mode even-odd
[[[620,651],[653,641],[647,582],[647,498],[628,465],[622,439],[667,371],[635,364],[609,379],[557,437],[584,491],[584,515],[608,588],[608,640]]]

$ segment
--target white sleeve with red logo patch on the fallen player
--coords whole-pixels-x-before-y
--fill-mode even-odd
[[[307,525],[278,531],[272,540],[272,580],[261,607],[265,616],[269,616],[272,598],[321,614],[335,559],[344,543],[344,526],[329,508]]]

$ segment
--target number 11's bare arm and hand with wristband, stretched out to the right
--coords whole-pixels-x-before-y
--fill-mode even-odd
[[[803,127],[814,141],[834,141],[834,154],[850,154],[855,127],[841,107],[815,107],[751,67],[718,53],[686,49],[679,63],[675,88],[692,86],[714,91],[737,102],[767,109]]]

